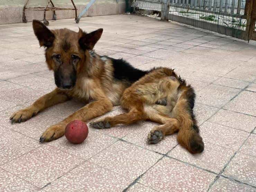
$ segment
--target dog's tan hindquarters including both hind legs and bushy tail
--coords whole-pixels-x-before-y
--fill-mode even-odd
[[[96,128],[131,124],[139,120],[158,122],[148,134],[151,143],[157,143],[165,135],[178,133],[179,143],[191,153],[202,152],[203,142],[199,133],[193,128],[195,119],[189,111],[187,92],[189,87],[178,80],[173,70],[158,68],[142,77],[127,88],[122,95],[121,105],[128,110],[115,117],[92,122]],[[156,104],[166,98],[166,106]]]

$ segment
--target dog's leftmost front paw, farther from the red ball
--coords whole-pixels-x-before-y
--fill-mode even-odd
[[[31,108],[31,107],[16,111],[10,117],[11,124],[24,122],[30,119],[31,117],[34,117],[37,113],[38,111],[35,108]]]

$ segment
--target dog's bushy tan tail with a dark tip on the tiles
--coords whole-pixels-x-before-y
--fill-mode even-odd
[[[204,149],[202,137],[193,114],[195,93],[193,88],[185,84],[179,87],[179,97],[172,110],[173,118],[180,121],[181,127],[177,136],[178,142],[191,153],[201,153]]]

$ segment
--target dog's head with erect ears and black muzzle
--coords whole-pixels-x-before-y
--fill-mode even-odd
[[[72,89],[76,77],[86,63],[86,55],[100,39],[103,29],[85,33],[69,29],[49,30],[42,22],[33,20],[34,33],[40,46],[46,47],[46,63],[54,71],[55,84],[60,89]]]

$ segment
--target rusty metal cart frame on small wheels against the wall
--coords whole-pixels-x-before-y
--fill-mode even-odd
[[[23,7],[23,16],[22,16],[22,21],[24,23],[28,22],[27,18],[26,18],[26,15],[25,15],[25,10],[28,9],[28,10],[34,10],[34,11],[44,11],[44,24],[47,26],[49,25],[49,22],[46,20],[46,17],[45,17],[45,12],[46,11],[53,11],[53,19],[56,20],[57,19],[57,16],[56,16],[56,13],[55,11],[58,11],[58,10],[75,10],[75,22],[76,23],[79,23],[79,19],[77,18],[77,9],[75,7],[75,3],[73,2],[73,0],[71,0],[74,8],[58,8],[58,7],[54,7],[54,4],[52,2],[52,0],[48,0],[47,2],[47,5],[45,7],[26,7],[27,4],[28,4],[28,1],[26,1],[24,7]],[[52,7],[48,7],[49,4],[52,4]]]

